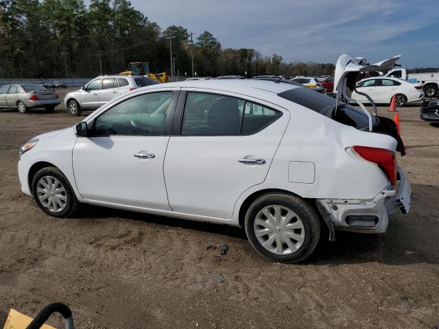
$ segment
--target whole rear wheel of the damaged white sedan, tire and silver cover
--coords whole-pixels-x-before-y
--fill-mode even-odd
[[[305,260],[320,239],[316,210],[287,193],[268,193],[255,199],[247,210],[245,227],[257,252],[284,263]]]

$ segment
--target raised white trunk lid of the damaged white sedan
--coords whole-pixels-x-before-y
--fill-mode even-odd
[[[366,58],[352,58],[344,53],[338,58],[337,64],[335,64],[334,90],[337,90],[344,77],[351,78],[352,76],[351,79],[353,79],[353,83],[355,84],[355,77],[357,73],[387,71],[393,69],[396,61],[399,60],[399,58],[401,58],[401,55],[394,56],[388,60],[382,60],[381,62],[377,62],[375,64],[369,64]],[[350,75],[349,73],[353,74]],[[349,85],[349,82],[347,85]]]

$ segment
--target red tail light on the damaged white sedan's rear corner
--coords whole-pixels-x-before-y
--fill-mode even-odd
[[[395,184],[396,158],[394,152],[390,151],[390,149],[358,145],[355,145],[353,149],[359,156],[361,156],[361,158],[373,162],[383,169],[385,175],[389,178],[390,183]]]

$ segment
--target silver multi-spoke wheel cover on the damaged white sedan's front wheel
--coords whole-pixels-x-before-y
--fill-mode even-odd
[[[67,206],[67,193],[53,176],[44,176],[36,184],[36,197],[50,212],[61,212]]]

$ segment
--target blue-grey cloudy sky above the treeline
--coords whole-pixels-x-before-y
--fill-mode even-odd
[[[407,68],[439,66],[438,0],[131,0],[165,29],[207,30],[223,48],[334,63],[342,53]]]

